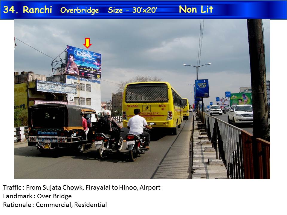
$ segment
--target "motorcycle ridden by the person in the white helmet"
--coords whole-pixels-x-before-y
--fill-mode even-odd
[[[123,132],[118,128],[112,128],[112,130],[118,132],[118,135],[120,135],[120,132]],[[113,151],[122,151],[123,138],[120,136],[120,141],[117,143],[115,142],[115,138],[111,139],[110,134],[96,133],[95,147],[98,151],[100,158],[102,159],[108,156],[108,154],[112,153]]]

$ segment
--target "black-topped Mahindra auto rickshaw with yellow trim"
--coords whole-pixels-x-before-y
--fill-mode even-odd
[[[87,135],[81,113],[89,122]],[[95,142],[97,120],[97,113],[91,108],[64,104],[30,106],[28,146],[36,146],[41,153],[57,148],[72,148],[82,153],[86,145]]]

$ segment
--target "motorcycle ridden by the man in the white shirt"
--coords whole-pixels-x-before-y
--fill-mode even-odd
[[[154,125],[154,122],[149,123],[150,125]],[[150,132],[149,129],[144,128],[144,131]],[[139,154],[144,154],[147,149],[144,148],[144,143],[146,138],[141,138],[139,135],[128,133],[126,135],[126,150],[129,151],[129,160],[135,161]]]

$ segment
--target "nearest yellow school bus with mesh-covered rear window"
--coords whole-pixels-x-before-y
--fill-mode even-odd
[[[123,126],[140,109],[146,122],[154,128],[170,129],[177,134],[183,120],[183,103],[180,95],[168,82],[136,82],[125,86],[123,93]]]

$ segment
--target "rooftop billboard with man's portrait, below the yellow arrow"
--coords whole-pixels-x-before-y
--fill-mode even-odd
[[[66,74],[101,78],[102,55],[73,46],[66,46]]]

